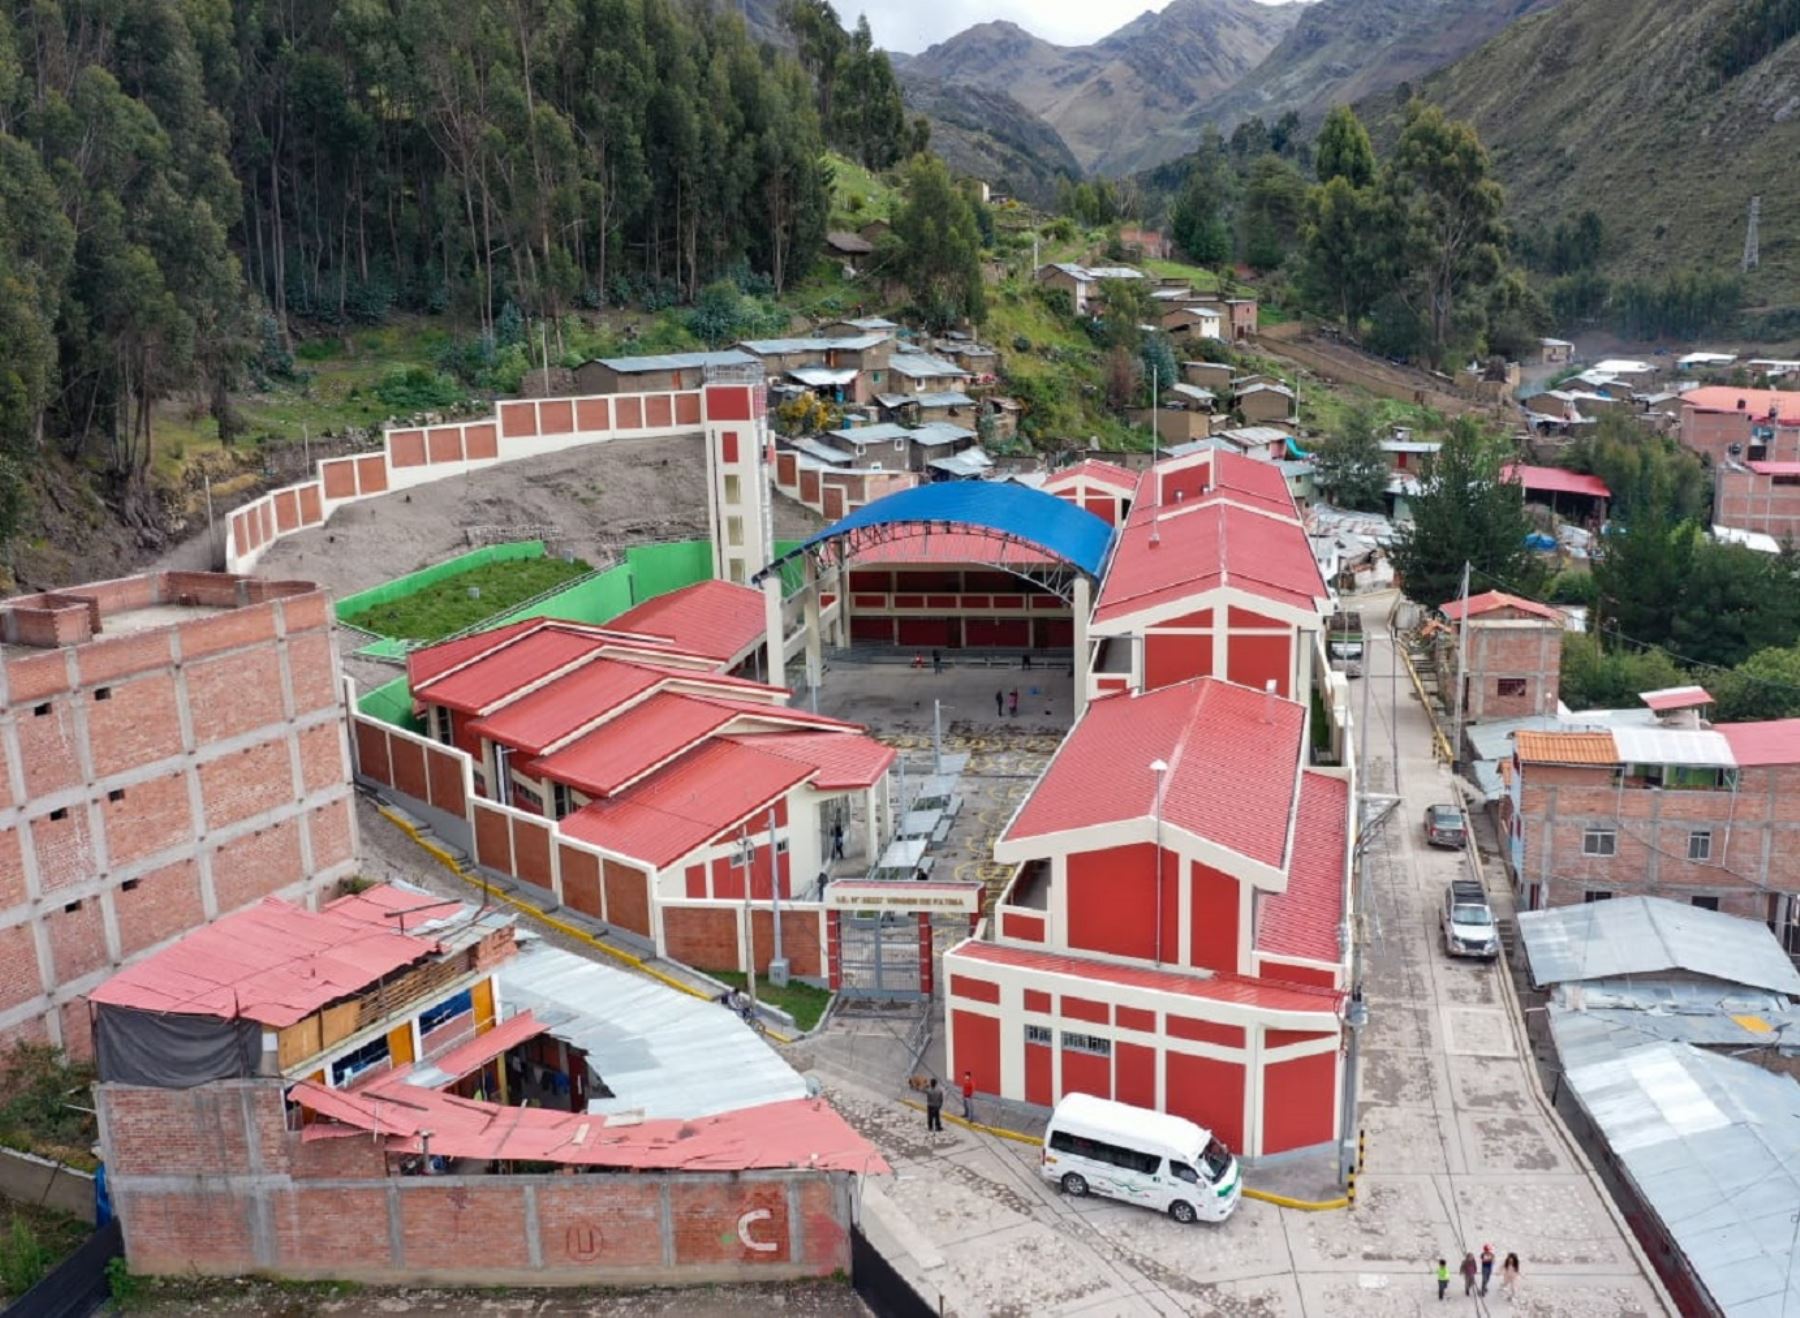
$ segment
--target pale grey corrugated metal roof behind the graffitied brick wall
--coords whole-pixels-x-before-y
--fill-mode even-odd
[[[585,1052],[612,1091],[589,1098],[590,1113],[713,1116],[806,1097],[806,1080],[767,1041],[706,998],[540,938],[527,938],[499,974],[500,1001]]]

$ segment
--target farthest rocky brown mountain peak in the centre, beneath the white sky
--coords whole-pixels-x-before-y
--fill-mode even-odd
[[[1175,126],[1256,68],[1305,9],[1174,0],[1082,47],[1051,45],[1010,22],[977,23],[909,59],[905,72],[1003,92],[1055,128],[1084,169],[1118,175],[1141,164],[1147,140],[1174,140],[1159,158],[1192,146]]]

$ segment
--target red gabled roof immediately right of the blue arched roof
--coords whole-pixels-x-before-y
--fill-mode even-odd
[[[1305,610],[1325,598],[1319,564],[1298,522],[1192,499],[1165,506],[1161,519],[1152,522],[1139,495],[1130,520],[1120,529],[1094,621],[1125,618],[1224,585]]]

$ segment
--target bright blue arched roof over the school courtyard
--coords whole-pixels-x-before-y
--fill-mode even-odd
[[[940,481],[864,504],[801,542],[783,558],[805,553],[826,540],[841,540],[855,531],[887,526],[974,528],[1030,544],[1060,558],[1087,576],[1100,578],[1112,546],[1112,528],[1042,490],[1012,481]]]

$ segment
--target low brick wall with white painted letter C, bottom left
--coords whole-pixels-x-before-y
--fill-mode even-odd
[[[277,1082],[97,1095],[139,1273],[626,1286],[850,1266],[844,1174],[389,1178],[367,1138],[302,1143]]]

